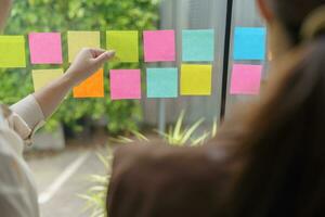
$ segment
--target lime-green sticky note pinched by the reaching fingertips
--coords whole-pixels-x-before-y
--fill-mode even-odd
[[[139,33],[136,30],[109,30],[106,33],[107,50],[115,50],[115,60],[122,63],[139,62]]]

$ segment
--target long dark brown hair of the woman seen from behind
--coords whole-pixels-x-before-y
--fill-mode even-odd
[[[242,107],[217,138],[235,146],[239,162],[226,216],[325,216],[325,36],[317,29],[306,41],[300,34],[325,1],[265,1],[295,46],[273,63],[261,100]]]

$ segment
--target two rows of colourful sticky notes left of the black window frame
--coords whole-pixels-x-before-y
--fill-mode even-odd
[[[107,50],[115,50],[112,61],[139,63],[143,50],[145,63],[177,62],[176,31],[107,30]],[[147,98],[178,98],[179,95],[210,95],[212,91],[212,65],[214,60],[214,30],[185,29],[182,35],[182,64],[180,67],[147,67],[145,69]],[[67,60],[72,63],[83,48],[102,48],[100,31],[69,30],[67,40],[61,33],[30,33],[28,48],[32,67],[35,90],[39,90],[64,74],[63,41],[67,41]],[[140,40],[142,36],[142,40]],[[143,46],[143,49],[140,47]],[[0,36],[0,67],[26,67],[25,36]],[[58,68],[37,69],[37,65],[56,65]],[[139,68],[110,68],[109,93],[112,100],[141,99],[144,93]],[[95,72],[73,90],[74,98],[103,98],[104,69]]]

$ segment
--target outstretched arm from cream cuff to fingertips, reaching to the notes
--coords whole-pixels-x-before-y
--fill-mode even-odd
[[[55,112],[73,87],[95,73],[114,54],[114,51],[83,49],[62,77],[12,105],[11,110],[34,130]]]

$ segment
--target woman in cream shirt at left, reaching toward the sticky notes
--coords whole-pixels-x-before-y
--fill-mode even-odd
[[[11,0],[0,0],[0,28]],[[10,108],[0,106],[0,216],[38,217],[35,182],[23,159],[24,145],[51,116],[69,90],[114,56],[114,51],[83,49],[64,76]],[[24,144],[25,143],[25,144]]]

